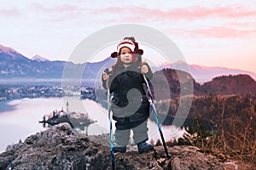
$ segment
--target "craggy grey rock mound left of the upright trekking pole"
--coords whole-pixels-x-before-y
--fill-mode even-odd
[[[83,169],[101,154],[106,161],[107,150],[73,133],[69,124],[61,124],[9,146],[0,155],[0,169]]]

